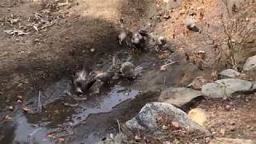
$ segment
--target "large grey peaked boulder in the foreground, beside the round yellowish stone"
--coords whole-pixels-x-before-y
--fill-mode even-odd
[[[158,134],[162,129],[162,126],[158,124],[159,114],[171,117],[173,122],[178,122],[180,128],[190,127],[191,131],[207,132],[197,122],[192,121],[185,112],[166,102],[147,103],[134,118],[126,122],[126,126],[130,130],[147,130]]]

